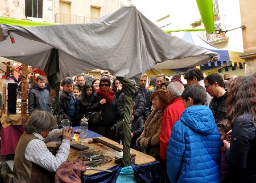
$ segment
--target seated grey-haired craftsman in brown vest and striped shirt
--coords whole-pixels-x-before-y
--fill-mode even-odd
[[[52,130],[56,119],[51,113],[35,110],[24,125],[15,151],[13,173],[20,182],[54,182],[56,169],[68,159],[72,129]],[[51,131],[52,130],[52,131]],[[54,156],[46,142],[62,135],[59,151]]]

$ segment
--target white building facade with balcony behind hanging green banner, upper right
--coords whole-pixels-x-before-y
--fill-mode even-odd
[[[158,2],[149,2],[146,0],[132,0],[131,2],[142,14],[160,28],[170,30],[204,28],[203,23],[195,28],[191,25],[200,21],[201,18],[196,1],[159,0]],[[194,33],[219,49],[243,52],[242,29],[239,28],[241,27],[239,0],[213,0],[213,9],[214,14],[217,15],[214,21],[216,32],[213,34],[209,34],[206,31]],[[231,29],[234,30],[230,31]],[[219,33],[220,30],[225,33]],[[227,30],[228,32],[226,32]],[[172,35],[175,35],[175,32]],[[236,61],[233,60],[233,62]],[[241,66],[241,63],[237,63],[237,65]],[[229,67],[228,70],[222,69],[220,74],[224,75],[228,72],[231,75],[245,75],[243,64],[241,67],[243,69],[238,68],[236,70],[232,67]]]

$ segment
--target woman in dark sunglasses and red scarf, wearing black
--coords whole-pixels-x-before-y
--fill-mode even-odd
[[[101,114],[101,122],[93,126],[93,131],[106,138],[114,139],[114,131],[110,129],[116,122],[117,99],[115,93],[109,88],[110,84],[109,78],[101,78],[100,88],[93,94],[88,112],[100,112]]]

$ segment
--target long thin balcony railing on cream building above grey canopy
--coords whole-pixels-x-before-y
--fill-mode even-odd
[[[90,23],[96,18],[90,18],[85,16],[68,15],[68,14],[55,14],[55,23],[62,24],[76,24],[76,23]]]

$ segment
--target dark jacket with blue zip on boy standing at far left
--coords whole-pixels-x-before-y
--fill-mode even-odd
[[[28,93],[28,113],[31,114],[36,109],[53,113],[49,91],[34,84]]]

